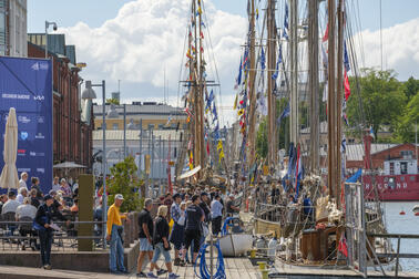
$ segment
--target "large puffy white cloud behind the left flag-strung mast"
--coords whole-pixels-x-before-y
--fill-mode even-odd
[[[239,45],[245,39],[247,20],[216,10],[211,1],[205,6],[208,19],[205,24],[211,30],[221,82],[232,87],[236,74],[233,69],[239,61]],[[124,4],[116,18],[99,28],[79,22],[59,32],[65,33],[67,43],[76,45],[78,60],[88,63],[83,78],[162,87],[165,68],[168,87],[173,92],[177,91],[181,61],[185,58],[190,7],[190,0],[136,0]],[[206,30],[204,35],[207,42]],[[206,56],[211,54],[207,45],[204,45]],[[214,79],[213,63],[209,58],[206,61],[212,68],[208,75]],[[141,85],[127,97],[136,97],[139,92],[143,93]]]

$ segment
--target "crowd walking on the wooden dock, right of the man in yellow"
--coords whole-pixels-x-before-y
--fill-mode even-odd
[[[168,278],[178,278],[172,269],[172,258],[168,252],[172,246],[174,266],[195,265],[200,248],[209,234],[209,225],[213,236],[217,236],[222,230],[223,216],[239,211],[234,204],[234,194],[225,196],[215,187],[211,189],[175,187],[173,196],[166,194],[159,199],[160,206],[154,220],[151,214],[153,200],[145,199],[137,220],[140,255],[136,276],[157,278],[168,272]],[[160,269],[156,265],[162,254],[167,270]],[[143,269],[145,257],[151,262],[149,272]]]

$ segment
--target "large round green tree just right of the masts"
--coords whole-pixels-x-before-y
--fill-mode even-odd
[[[384,125],[391,130],[396,126],[395,120],[406,104],[402,84],[394,71],[372,69],[362,69],[360,78],[351,78],[351,84],[352,95],[347,104],[349,123],[354,127],[372,127],[377,141],[377,133]]]

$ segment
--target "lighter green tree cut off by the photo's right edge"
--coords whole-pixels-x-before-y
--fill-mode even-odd
[[[403,143],[415,142],[416,125],[419,122],[419,92],[406,105],[397,121],[396,138]]]

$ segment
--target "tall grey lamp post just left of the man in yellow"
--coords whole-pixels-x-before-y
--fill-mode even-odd
[[[92,87],[102,87],[102,133],[103,133],[103,152],[102,152],[102,179],[103,179],[103,195],[102,195],[102,220],[106,221],[108,217],[108,193],[106,193],[106,122],[105,122],[105,95],[106,95],[106,83],[102,81],[100,84],[92,84],[91,81],[85,82],[85,89],[82,92],[82,99],[96,97],[94,90]],[[103,226],[102,237],[103,237],[103,249],[106,248],[106,227]]]

